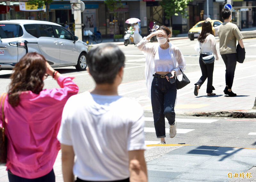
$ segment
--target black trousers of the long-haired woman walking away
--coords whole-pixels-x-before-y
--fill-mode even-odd
[[[212,86],[212,75],[213,75],[214,62],[212,64],[204,64],[204,62],[202,60],[202,55],[203,55],[203,57],[208,56],[206,54],[200,54],[199,65],[200,65],[200,68],[202,71],[202,76],[197,81],[197,83],[195,83],[195,85],[199,85],[199,87],[201,87],[207,78],[206,93],[210,94],[210,93],[212,93],[212,90],[215,90],[215,88]]]

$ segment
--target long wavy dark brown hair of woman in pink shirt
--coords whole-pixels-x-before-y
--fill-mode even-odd
[[[32,91],[39,94],[44,87],[43,77],[46,72],[44,56],[36,52],[27,53],[15,64],[10,77],[11,84],[8,90],[8,102],[12,107],[20,103],[22,91]]]

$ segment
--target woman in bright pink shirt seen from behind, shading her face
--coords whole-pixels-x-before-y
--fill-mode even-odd
[[[53,164],[60,150],[56,137],[61,114],[78,87],[73,78],[62,76],[37,53],[26,54],[13,71],[4,101],[9,181],[55,181]],[[43,90],[47,75],[60,88]],[[2,114],[0,110],[0,126]]]

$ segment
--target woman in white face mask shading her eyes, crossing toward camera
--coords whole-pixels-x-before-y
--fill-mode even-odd
[[[147,44],[151,37],[157,37],[159,44]],[[146,56],[145,76],[148,88],[148,96],[151,98],[156,137],[165,144],[165,117],[170,125],[169,136],[176,135],[176,122],[174,105],[176,102],[176,82],[170,83],[166,74],[171,73],[172,77],[182,74],[185,71],[185,59],[176,46],[169,42],[171,31],[165,26],[158,28],[156,32],[144,37],[137,47]],[[173,80],[173,79],[172,79]]]

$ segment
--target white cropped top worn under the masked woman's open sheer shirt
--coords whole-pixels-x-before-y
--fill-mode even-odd
[[[174,69],[170,49],[161,49],[160,45],[154,57],[155,72],[171,72]]]

